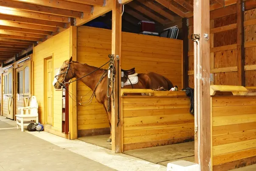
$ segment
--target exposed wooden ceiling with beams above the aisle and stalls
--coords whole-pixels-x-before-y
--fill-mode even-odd
[[[0,61],[21,54],[70,25],[80,26],[112,9],[113,0],[0,0]],[[211,10],[236,0],[210,0]],[[193,0],[122,0],[124,19],[165,25],[193,16]]]

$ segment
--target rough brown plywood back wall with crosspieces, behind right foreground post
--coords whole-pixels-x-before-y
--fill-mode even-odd
[[[194,42],[190,39],[194,23],[193,18],[188,20],[188,85],[194,87]],[[211,84],[242,85],[237,72],[237,34],[236,4],[210,12],[211,73],[214,74]]]

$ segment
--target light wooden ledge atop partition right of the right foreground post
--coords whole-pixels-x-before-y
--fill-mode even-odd
[[[232,92],[233,95],[247,95],[248,89],[243,86],[211,85],[210,95],[216,92]]]

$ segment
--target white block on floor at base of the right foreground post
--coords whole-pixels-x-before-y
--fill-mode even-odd
[[[178,160],[167,164],[166,171],[200,171],[197,163]]]

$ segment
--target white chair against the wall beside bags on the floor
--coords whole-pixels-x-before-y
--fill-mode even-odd
[[[38,123],[38,103],[36,96],[31,97],[30,106],[28,107],[20,107],[18,110],[21,110],[21,114],[16,114],[16,122],[17,122],[17,129],[19,129],[19,125],[21,127],[21,131],[24,131],[24,126],[28,126],[31,120],[36,120]],[[25,111],[25,114],[24,114]],[[29,112],[30,111],[30,112]],[[20,122],[19,122],[20,121]]]

